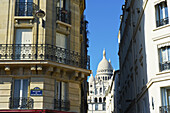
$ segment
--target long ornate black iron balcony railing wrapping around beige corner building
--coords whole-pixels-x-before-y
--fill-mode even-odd
[[[50,60],[90,69],[90,57],[48,44],[0,44],[0,60]]]

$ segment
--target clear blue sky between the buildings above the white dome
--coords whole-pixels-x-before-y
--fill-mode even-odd
[[[119,69],[118,31],[121,7],[124,0],[86,0],[86,20],[88,24],[90,66],[96,75],[98,63],[102,60],[103,49],[106,58],[111,59],[115,70]]]

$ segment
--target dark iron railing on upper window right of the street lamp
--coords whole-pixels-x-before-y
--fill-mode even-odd
[[[71,12],[70,11],[62,9],[60,7],[56,7],[56,12],[57,12],[56,14],[57,20],[67,23],[67,24],[71,23]]]

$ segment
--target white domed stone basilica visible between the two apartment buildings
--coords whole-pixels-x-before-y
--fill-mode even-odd
[[[105,93],[113,73],[113,67],[110,60],[106,59],[104,50],[95,78],[93,75],[89,78],[88,113],[106,113]]]

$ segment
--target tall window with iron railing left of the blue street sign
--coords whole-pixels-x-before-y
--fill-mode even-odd
[[[23,109],[27,108],[28,97],[28,79],[14,80],[14,93],[11,98],[11,108]]]

